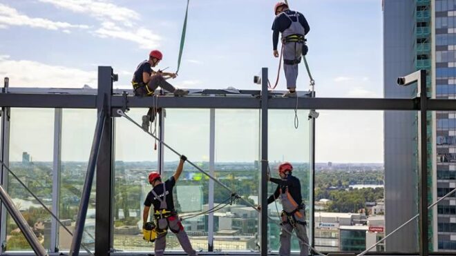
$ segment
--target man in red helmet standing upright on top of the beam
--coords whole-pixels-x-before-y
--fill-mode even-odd
[[[274,57],[279,56],[277,50],[278,34],[282,34],[283,70],[287,79],[288,92],[286,97],[296,97],[296,80],[298,79],[298,63],[301,55],[307,54],[304,36],[310,30],[309,23],[301,12],[289,10],[287,3],[278,2],[274,6],[276,18],[272,24],[272,46]]]

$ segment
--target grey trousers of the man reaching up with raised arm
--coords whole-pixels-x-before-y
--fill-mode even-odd
[[[189,237],[187,233],[185,233],[184,227],[180,223],[179,217],[172,216],[168,218],[168,225],[169,229],[175,236],[178,237],[179,244],[184,249],[185,253],[190,256],[196,256],[196,251],[193,250],[191,247]],[[167,246],[167,235],[158,235],[157,239],[155,239],[155,255],[162,256],[164,253],[164,248]]]

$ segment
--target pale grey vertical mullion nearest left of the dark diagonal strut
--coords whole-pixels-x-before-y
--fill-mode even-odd
[[[61,120],[62,109],[54,110],[54,164],[53,164],[53,214],[59,217],[60,208],[60,173],[61,173]],[[55,218],[50,222],[50,251],[58,252],[59,247],[59,223]]]

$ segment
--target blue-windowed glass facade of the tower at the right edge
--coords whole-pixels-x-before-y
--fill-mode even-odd
[[[435,97],[437,99],[455,99],[456,78],[456,37],[455,37],[454,0],[435,1]],[[437,199],[455,188],[456,178],[456,112],[435,112],[436,116],[436,161],[437,161]],[[455,196],[447,197],[439,203],[437,213],[437,247],[439,251],[456,249]]]

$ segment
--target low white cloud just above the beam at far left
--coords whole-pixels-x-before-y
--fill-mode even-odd
[[[9,77],[12,87],[82,88],[97,87],[97,71],[52,66],[29,60],[12,60],[0,55],[0,77]]]

